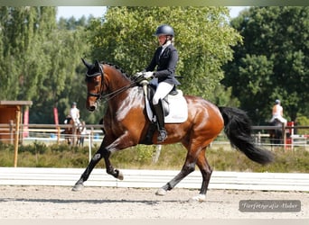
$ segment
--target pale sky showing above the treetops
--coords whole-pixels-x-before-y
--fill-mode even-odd
[[[246,8],[245,6],[229,6],[230,16],[236,17],[239,12]],[[92,14],[94,17],[100,17],[105,12],[105,6],[58,6],[57,19],[61,16],[64,18],[70,18],[74,16],[75,19],[80,19],[82,15],[88,17]]]

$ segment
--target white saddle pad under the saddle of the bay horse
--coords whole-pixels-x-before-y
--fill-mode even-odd
[[[183,97],[183,91],[177,90],[178,94],[168,95],[170,113],[165,116],[165,123],[180,123],[188,119],[188,104]],[[149,121],[154,121],[154,112],[150,108],[148,99],[145,98],[146,112]]]

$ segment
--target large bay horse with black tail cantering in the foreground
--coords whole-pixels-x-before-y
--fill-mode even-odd
[[[110,155],[144,143],[145,135],[151,125],[145,112],[143,89],[137,84],[136,76],[127,76],[119,67],[98,60],[90,64],[82,58],[82,62],[88,69],[85,79],[88,88],[87,109],[94,112],[98,107],[98,100],[103,97],[108,108],[103,118],[105,137],[72,191],[80,191],[84,187],[83,183],[88,180],[91,171],[102,157],[105,160],[107,173],[122,180],[124,175],[112,166],[109,161]],[[187,149],[187,156],[180,173],[155,194],[165,195],[186,175],[192,173],[197,165],[201,170],[201,189],[192,199],[205,201],[212,173],[205,156],[206,148],[223,128],[231,144],[251,160],[262,165],[273,161],[270,151],[258,148],[252,142],[251,125],[246,112],[237,108],[217,107],[197,96],[184,97],[188,104],[187,121],[166,123],[168,138],[163,143],[157,142],[157,130],[155,130],[151,144],[166,145],[181,142]]]

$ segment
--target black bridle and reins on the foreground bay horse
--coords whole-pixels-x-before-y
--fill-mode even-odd
[[[109,94],[103,94],[103,85],[104,85],[104,69],[103,67],[101,66],[101,64],[99,64],[98,66],[98,72],[97,73],[94,73],[94,74],[89,74],[88,72],[86,73],[86,81],[88,80],[88,78],[91,78],[91,77],[95,77],[95,76],[102,76],[101,78],[101,84],[100,84],[100,87],[99,87],[99,91],[98,93],[91,93],[91,92],[88,92],[88,96],[94,96],[94,97],[97,97],[97,101],[98,100],[102,100],[103,98],[105,98],[105,101],[107,102],[108,100],[114,98],[117,96],[117,94],[120,94],[124,91],[126,91],[127,89],[129,89],[130,87],[133,87],[135,86],[138,82],[138,80],[134,80],[132,81],[129,85],[125,85],[119,89],[117,89],[116,91],[114,92],[111,92]]]

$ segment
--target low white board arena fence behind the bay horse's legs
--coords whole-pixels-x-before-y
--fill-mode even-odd
[[[0,167],[0,185],[54,185],[73,186],[83,173],[82,168]],[[122,170],[125,179],[120,181],[95,168],[86,186],[158,188],[170,181],[179,171],[175,170]],[[200,189],[201,173],[194,171],[176,186]],[[214,171],[210,189],[301,191],[309,192],[309,174],[296,173],[246,173]]]

